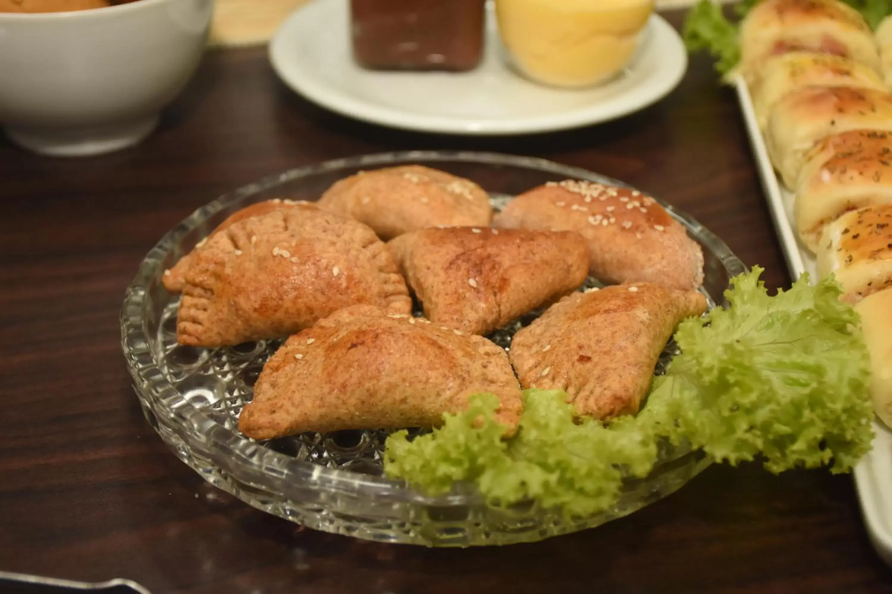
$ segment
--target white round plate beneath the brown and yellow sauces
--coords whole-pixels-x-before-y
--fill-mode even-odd
[[[382,72],[352,59],[346,0],[315,0],[294,12],[269,44],[273,69],[295,92],[350,118],[444,134],[528,134],[620,118],[659,101],[684,76],[681,37],[658,15],[622,77],[562,90],[519,77],[502,59],[490,12],[486,54],[465,73]]]

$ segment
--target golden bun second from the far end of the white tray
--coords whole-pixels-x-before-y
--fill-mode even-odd
[[[775,103],[808,86],[886,90],[886,83],[875,70],[850,58],[829,53],[782,53],[765,61],[762,76],[749,88],[759,127],[764,129]]]

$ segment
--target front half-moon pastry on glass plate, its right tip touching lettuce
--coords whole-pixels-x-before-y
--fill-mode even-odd
[[[491,393],[514,433],[523,407],[505,351],[483,337],[368,305],[289,338],[269,359],[238,428],[255,439],[304,431],[435,427]]]

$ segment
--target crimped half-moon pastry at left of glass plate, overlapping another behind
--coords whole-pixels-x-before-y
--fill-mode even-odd
[[[231,224],[191,259],[177,319],[183,345],[285,337],[350,305],[412,307],[375,233],[310,204]]]

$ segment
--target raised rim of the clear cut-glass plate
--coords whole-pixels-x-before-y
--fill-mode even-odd
[[[341,468],[326,468],[308,461],[295,460],[284,453],[270,450],[259,443],[236,434],[231,429],[219,425],[211,420],[191,403],[179,403],[176,410],[164,402],[164,395],[172,387],[161,386],[166,380],[161,378],[161,373],[153,365],[153,354],[149,347],[148,333],[145,331],[145,320],[142,316],[142,307],[145,299],[145,286],[155,276],[159,275],[161,261],[170,248],[185,236],[202,224],[209,216],[217,214],[220,210],[232,202],[244,199],[247,196],[272,189],[273,187],[293,182],[310,175],[333,172],[351,167],[386,166],[409,161],[425,162],[465,162],[479,163],[482,165],[526,167],[538,169],[546,173],[563,175],[567,178],[582,179],[593,183],[605,183],[616,186],[632,188],[628,183],[615,180],[606,175],[600,175],[582,167],[561,165],[548,159],[536,157],[524,157],[498,152],[480,151],[392,151],[381,152],[343,159],[331,159],[315,165],[294,167],[285,172],[268,175],[257,182],[249,183],[235,191],[223,194],[208,204],[199,207],[187,216],[183,221],[167,232],[161,240],[148,252],[136,272],[133,280],[125,292],[124,303],[120,312],[122,349],[127,360],[128,370],[137,385],[144,385],[149,389],[142,393],[153,404],[152,412],[157,415],[159,409],[165,413],[167,421],[178,424],[178,428],[195,437],[199,433],[202,442],[210,442],[211,447],[218,452],[227,452],[227,456],[215,457],[214,463],[219,468],[230,471],[246,470],[246,474],[254,474],[262,468],[264,472],[277,471],[282,476],[291,476],[295,483],[301,480],[309,480],[318,487],[333,492],[350,492],[357,494],[362,492],[368,496],[374,496],[379,500],[392,500],[407,503],[415,503],[432,507],[474,506],[484,503],[483,498],[470,484],[456,484],[452,492],[445,495],[430,496],[417,492],[404,481],[394,480],[384,476],[361,475],[351,470]],[[664,200],[654,196],[651,192],[645,192],[677,220],[685,224],[689,232],[696,233],[698,239],[704,243],[714,255],[722,262],[729,277],[746,272],[747,266],[731,252],[731,248],[719,239],[713,232],[692,216],[667,204]],[[159,381],[159,379],[161,381]]]

